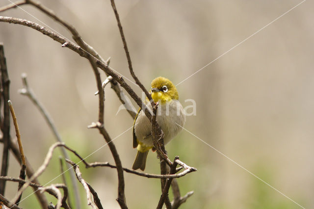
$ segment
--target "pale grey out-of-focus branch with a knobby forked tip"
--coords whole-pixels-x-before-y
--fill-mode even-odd
[[[59,132],[57,131],[57,129],[56,129],[56,127],[52,121],[52,117],[49,115],[49,113],[45,109],[44,105],[41,104],[41,102],[37,99],[33,90],[29,87],[28,81],[27,81],[27,75],[25,73],[22,74],[22,83],[23,83],[23,88],[19,90],[19,93],[22,95],[25,95],[26,97],[28,97],[30,99],[30,101],[38,108],[39,112],[42,114],[42,116],[46,120],[48,127],[52,130],[52,133],[55,136],[55,139],[58,142],[63,142]],[[67,154],[67,152],[65,151],[65,149],[63,147],[61,147],[61,153],[62,153],[64,159],[65,158],[70,159],[69,155]],[[71,166],[69,164],[67,164],[67,168],[71,169]],[[71,183],[73,185],[76,205],[78,205],[78,208],[80,208],[79,207],[80,198],[79,198],[79,193],[78,193],[78,184],[77,184],[77,181],[75,178],[74,171],[72,169],[70,170],[70,180],[71,180]]]

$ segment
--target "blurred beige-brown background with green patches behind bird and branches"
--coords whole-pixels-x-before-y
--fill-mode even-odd
[[[109,0],[41,2],[75,26],[104,59],[110,56],[113,69],[131,79]],[[157,76],[180,83],[300,2],[117,0],[116,5],[135,74],[149,88]],[[0,0],[0,6],[8,3]],[[40,11],[27,5],[22,8],[71,38],[67,30]],[[43,25],[25,11],[16,8],[0,15]],[[314,208],[313,19],[314,3],[305,1],[177,85],[183,106],[191,105],[184,102],[186,99],[195,100],[197,105],[196,115],[187,117],[188,131],[305,208]],[[97,121],[98,98],[94,96],[93,71],[85,58],[25,26],[0,23],[0,42],[4,43],[10,97],[24,152],[34,169],[42,164],[55,139],[36,107],[18,93],[22,73],[28,75],[30,87],[50,112],[66,144],[83,157],[105,144],[97,130],[87,129]],[[141,94],[136,85],[128,83]],[[105,128],[115,138],[123,166],[131,168],[136,150],[132,149],[131,130],[126,130],[133,120],[126,110],[116,114],[121,103],[109,86],[105,94]],[[15,136],[13,128],[11,135]],[[179,155],[198,169],[178,180],[182,195],[194,191],[182,209],[300,208],[187,131],[178,134],[166,149],[171,159]],[[42,184],[59,175],[59,156],[58,150],[39,178]],[[114,163],[107,146],[87,161]],[[160,172],[155,153],[149,154],[147,162],[145,172]],[[119,208],[116,171],[85,169],[82,164],[80,169],[104,207]],[[19,170],[11,155],[8,176],[17,177]],[[52,181],[61,182],[60,177]],[[161,193],[159,180],[125,173],[125,182],[129,208],[156,208]],[[82,208],[88,208],[85,191],[81,184],[78,187]],[[7,183],[6,196],[12,199],[16,190],[16,183]],[[23,197],[31,192],[27,189]],[[34,195],[20,206],[39,207]]]

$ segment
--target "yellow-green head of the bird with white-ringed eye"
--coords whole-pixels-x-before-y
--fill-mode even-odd
[[[155,78],[152,81],[151,93],[155,103],[158,101],[165,103],[179,99],[176,86],[169,79],[163,77]]]

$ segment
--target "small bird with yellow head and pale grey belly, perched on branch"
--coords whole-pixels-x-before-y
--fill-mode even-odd
[[[157,123],[164,133],[164,144],[174,138],[185,124],[185,114],[176,86],[167,78],[158,77],[152,81],[151,95],[155,103],[158,102]],[[152,109],[150,101],[146,98],[146,106]],[[178,126],[177,124],[180,126]],[[152,124],[140,108],[133,124],[133,148],[137,148],[132,169],[144,171],[148,151],[155,147],[152,139]]]

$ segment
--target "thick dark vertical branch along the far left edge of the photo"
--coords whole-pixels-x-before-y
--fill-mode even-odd
[[[9,167],[9,141],[10,141],[10,110],[7,101],[9,98],[9,86],[10,80],[7,72],[6,61],[4,56],[3,44],[0,44],[0,68],[1,68],[1,85],[2,85],[2,94],[3,97],[3,127],[1,131],[3,133],[3,152],[2,152],[2,164],[1,164],[1,176],[6,176]],[[4,195],[6,182],[0,181],[0,194]]]

